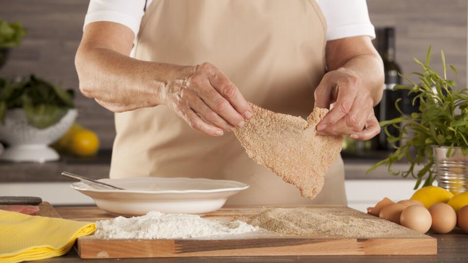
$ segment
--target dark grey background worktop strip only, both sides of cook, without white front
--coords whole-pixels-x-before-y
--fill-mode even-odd
[[[63,156],[57,162],[49,163],[9,163],[0,162],[0,183],[20,182],[69,182],[69,179],[60,175],[62,171],[69,171],[93,179],[107,178],[109,176],[112,150],[100,150],[97,156],[79,158]],[[346,179],[403,179],[399,176],[389,175],[385,166],[379,167],[366,174],[367,169],[385,158],[386,154],[350,155],[343,153]],[[398,163],[394,170],[408,169],[408,163]]]

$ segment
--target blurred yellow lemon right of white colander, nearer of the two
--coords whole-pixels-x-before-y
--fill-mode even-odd
[[[89,130],[79,130],[70,138],[69,149],[79,156],[91,156],[99,150],[99,138],[96,133]]]

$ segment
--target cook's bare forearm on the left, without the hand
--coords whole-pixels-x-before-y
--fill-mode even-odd
[[[117,51],[80,46],[75,60],[82,94],[113,112],[161,104],[159,91],[193,67],[137,60]]]

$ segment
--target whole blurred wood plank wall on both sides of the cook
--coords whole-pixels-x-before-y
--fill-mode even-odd
[[[375,26],[396,27],[396,56],[404,73],[417,70],[412,57],[424,58],[430,44],[436,53],[444,49],[448,62],[459,70],[459,85],[466,85],[466,0],[368,0],[368,5]],[[111,148],[115,136],[113,113],[78,92],[74,56],[87,6],[85,0],[0,0],[0,17],[21,21],[28,29],[0,76],[34,73],[75,88],[78,121],[98,132],[103,148]],[[440,68],[440,58],[435,55],[433,66]]]

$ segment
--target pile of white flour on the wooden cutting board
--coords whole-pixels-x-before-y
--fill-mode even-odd
[[[144,216],[122,216],[96,222],[95,236],[105,239],[184,239],[242,234],[259,230],[242,221],[223,223],[198,215],[151,211]]]

